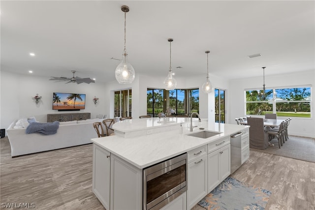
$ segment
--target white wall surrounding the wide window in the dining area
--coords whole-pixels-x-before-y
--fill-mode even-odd
[[[262,88],[262,77],[252,77],[246,79],[234,79],[230,80],[229,86],[229,120],[228,123],[235,123],[234,119],[245,116],[245,98],[244,90],[249,88]],[[265,75],[266,87],[288,87],[299,85],[311,85],[312,86],[312,118],[299,118],[295,117],[291,120],[288,134],[304,137],[315,138],[315,71],[304,71],[299,73],[285,74],[285,75]],[[260,116],[262,117],[262,116]],[[285,119],[278,117],[279,119]]]

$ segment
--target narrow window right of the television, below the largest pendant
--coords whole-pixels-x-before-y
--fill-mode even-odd
[[[131,89],[115,91],[115,117],[131,117]]]

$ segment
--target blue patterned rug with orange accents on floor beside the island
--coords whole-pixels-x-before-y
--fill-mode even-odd
[[[264,210],[270,195],[268,190],[227,177],[198,205],[206,210]]]

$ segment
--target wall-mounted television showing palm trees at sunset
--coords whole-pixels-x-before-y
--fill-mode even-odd
[[[85,94],[53,93],[53,109],[59,111],[85,109]]]

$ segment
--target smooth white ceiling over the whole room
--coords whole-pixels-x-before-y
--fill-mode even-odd
[[[115,80],[126,49],[136,74],[229,79],[315,70],[315,1],[0,2],[1,71]],[[34,52],[36,56],[29,56]],[[261,57],[248,55],[261,53]],[[183,67],[177,69],[176,67]]]

